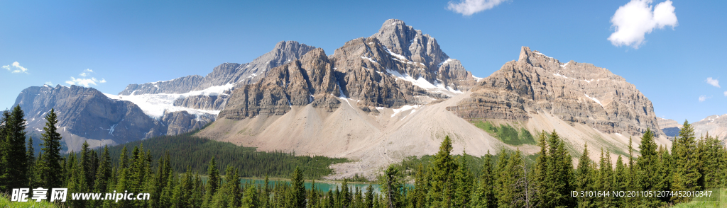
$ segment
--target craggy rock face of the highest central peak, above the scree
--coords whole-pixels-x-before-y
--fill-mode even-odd
[[[379,33],[348,41],[332,56],[314,49],[300,61],[273,68],[258,83],[238,87],[218,117],[284,115],[291,106],[307,104],[333,111],[339,96],[376,113],[377,107],[446,99],[475,83],[434,38],[401,20],[387,20]]]

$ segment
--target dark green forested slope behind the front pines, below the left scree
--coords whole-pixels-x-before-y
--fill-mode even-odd
[[[179,136],[160,136],[142,141],[132,141],[109,147],[111,155],[120,155],[124,146],[140,146],[151,158],[160,158],[169,153],[170,166],[175,172],[204,173],[209,160],[216,157],[220,167],[235,167],[241,177],[288,178],[295,167],[300,167],[306,178],[321,178],[332,174],[330,165],[348,162],[348,159],[321,156],[296,156],[294,152],[255,151],[254,148],[237,146],[233,143],[212,141],[185,133]],[[119,164],[119,157],[112,157],[113,164]],[[153,167],[157,167],[154,164]],[[188,169],[190,168],[190,169]]]

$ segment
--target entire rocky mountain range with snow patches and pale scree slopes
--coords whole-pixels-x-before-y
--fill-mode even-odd
[[[444,136],[453,138],[456,154],[538,151],[534,143],[504,141],[478,125],[483,122],[533,136],[555,130],[573,154],[587,144],[614,156],[627,154],[629,137],[636,146],[646,129],[670,146],[670,128],[678,128],[657,118],[651,101],[609,70],[523,46],[517,60],[477,78],[435,38],[401,20],[386,20],[374,35],[332,54],[281,41],[252,62],[224,63],[204,77],[130,84],[116,95],[31,87],[16,104],[29,130],[42,129],[44,114],[55,108],[71,150],[83,141],[119,144],[214,121],[198,136],[356,161],[336,165],[334,178],[372,175],[403,157],[433,154]],[[727,116],[694,123],[722,137],[726,124]]]

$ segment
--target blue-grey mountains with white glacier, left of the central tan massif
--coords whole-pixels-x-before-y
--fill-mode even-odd
[[[244,65],[224,63],[204,78],[190,75],[131,84],[119,95],[79,86],[30,87],[18,95],[15,104],[28,115],[28,128],[39,132],[45,113],[55,108],[69,150],[79,150],[84,141],[95,147],[177,135],[214,121],[236,84],[254,83],[270,68],[292,62],[312,49],[315,47],[296,41],[281,41]],[[35,135],[39,137],[39,133]]]

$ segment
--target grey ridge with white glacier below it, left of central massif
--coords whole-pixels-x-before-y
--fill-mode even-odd
[[[165,112],[182,111],[214,120],[236,86],[256,83],[271,68],[300,59],[313,49],[316,47],[296,41],[281,41],[272,51],[246,64],[224,63],[204,77],[189,75],[174,80],[131,84],[118,96],[108,96],[132,101],[158,120],[162,120]],[[184,132],[185,129],[179,131]]]

